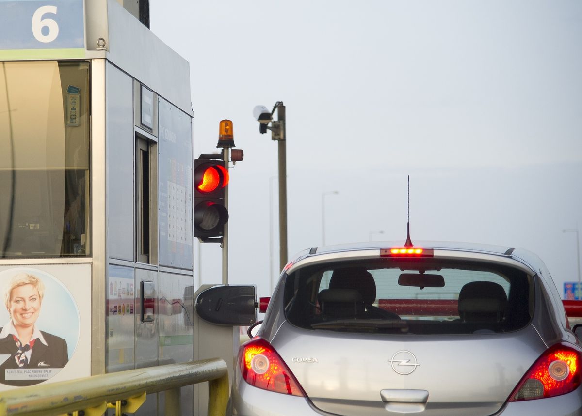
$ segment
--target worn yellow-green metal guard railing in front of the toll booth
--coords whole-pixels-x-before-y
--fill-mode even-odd
[[[229,395],[222,358],[159,365],[23,387],[0,393],[1,415],[101,416],[134,413],[150,393],[165,392],[165,415],[180,415],[180,388],[208,381],[208,416],[224,416]]]

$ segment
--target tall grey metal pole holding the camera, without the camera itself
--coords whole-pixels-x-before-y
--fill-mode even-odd
[[[285,106],[277,106],[277,119],[282,121],[282,138],[279,140],[279,270],[287,264],[287,162],[285,134]]]

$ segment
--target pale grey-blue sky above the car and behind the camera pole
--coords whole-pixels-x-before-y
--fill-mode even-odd
[[[151,30],[190,62],[195,156],[215,150],[222,119],[244,149],[230,171],[230,283],[268,296],[279,264],[277,144],[252,116],[276,101],[286,106],[289,257],[321,245],[329,191],[339,193],[325,197],[326,243],[379,230],[372,238],[404,242],[410,174],[413,242],[526,248],[560,293],[577,280],[576,234],[562,229],[582,232],[582,2],[150,8]],[[202,282],[220,283],[218,245],[201,254]]]

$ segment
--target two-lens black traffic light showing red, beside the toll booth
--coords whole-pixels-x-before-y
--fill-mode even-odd
[[[217,155],[200,155],[194,160],[194,236],[202,242],[222,242],[224,225],[228,221],[225,188],[228,170]]]

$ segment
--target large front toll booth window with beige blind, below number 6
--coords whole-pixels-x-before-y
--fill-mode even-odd
[[[89,64],[0,63],[0,258],[90,254]]]

